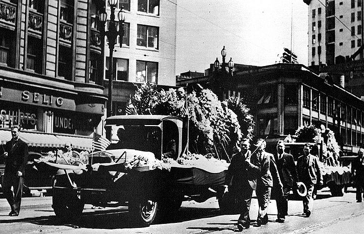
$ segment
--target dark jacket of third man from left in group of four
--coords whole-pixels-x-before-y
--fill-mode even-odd
[[[275,155],[275,158],[283,188],[293,188],[293,185],[298,182],[297,169],[293,156],[288,153],[283,153],[281,159],[278,158],[278,154]]]

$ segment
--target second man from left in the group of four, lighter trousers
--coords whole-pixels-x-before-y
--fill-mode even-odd
[[[258,139],[255,144],[256,153],[252,154],[251,162],[260,168],[257,177],[256,196],[258,199],[259,212],[257,218],[257,226],[268,223],[268,204],[270,200],[270,190],[273,187],[273,179],[269,170],[270,158],[272,154],[265,152],[266,142],[264,139]]]

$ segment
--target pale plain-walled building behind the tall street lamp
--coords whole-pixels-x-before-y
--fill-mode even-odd
[[[113,114],[124,113],[135,85],[149,82],[175,86],[177,6],[167,0],[119,0],[115,11],[122,7],[125,34],[122,46],[117,43],[113,52]],[[110,15],[108,3],[106,9]],[[107,87],[109,47],[105,40],[104,81]],[[104,93],[108,94],[108,89]]]

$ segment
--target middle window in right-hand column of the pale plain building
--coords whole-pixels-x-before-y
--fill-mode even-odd
[[[158,27],[138,25],[136,45],[158,49]]]

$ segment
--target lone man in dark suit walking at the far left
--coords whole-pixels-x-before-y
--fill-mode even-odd
[[[3,193],[11,207],[10,216],[18,216],[23,193],[24,167],[28,160],[28,145],[19,139],[20,127],[12,126],[12,139],[4,147],[5,173]],[[13,187],[13,191],[11,188]]]

